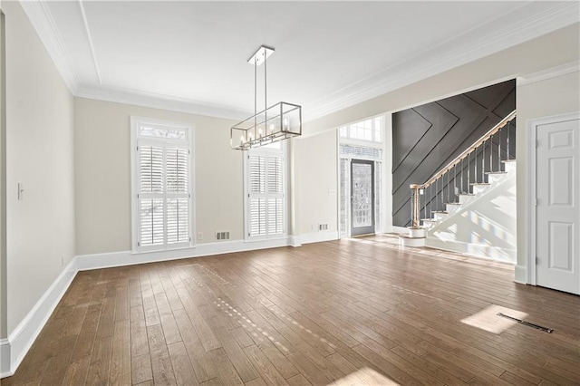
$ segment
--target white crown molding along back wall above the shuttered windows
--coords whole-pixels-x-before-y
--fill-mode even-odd
[[[98,101],[113,101],[116,103],[133,104],[152,109],[186,112],[189,114],[205,115],[234,121],[243,120],[253,114],[252,111],[224,107],[200,101],[191,101],[155,92],[141,92],[138,90],[108,86],[80,87],[74,93],[74,96]]]

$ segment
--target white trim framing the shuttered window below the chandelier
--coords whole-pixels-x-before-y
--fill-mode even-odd
[[[250,211],[249,211],[249,156],[250,153],[252,154],[266,154],[267,152],[271,152],[272,149],[268,148],[256,148],[250,150],[244,150],[244,242],[246,243],[253,243],[258,241],[265,241],[265,240],[280,240],[285,239],[288,236],[288,147],[285,141],[278,142],[280,143],[280,153],[282,154],[282,171],[284,176],[282,177],[282,202],[283,202],[283,209],[282,209],[282,216],[283,223],[284,223],[284,232],[282,234],[275,234],[274,236],[250,236]]]

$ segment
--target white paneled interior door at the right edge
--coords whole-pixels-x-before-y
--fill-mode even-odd
[[[580,120],[536,126],[536,285],[580,294]]]

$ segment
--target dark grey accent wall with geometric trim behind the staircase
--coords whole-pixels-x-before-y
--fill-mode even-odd
[[[515,109],[516,81],[512,80],[392,114],[393,225],[411,225],[410,184],[426,182]],[[508,151],[515,158],[515,127],[509,132],[513,138]],[[489,148],[496,156],[501,149]],[[493,165],[501,167],[499,161]],[[465,189],[469,189],[467,181]]]

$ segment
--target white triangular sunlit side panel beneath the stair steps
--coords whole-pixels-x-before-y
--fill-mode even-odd
[[[428,229],[425,245],[516,264],[516,170]]]

